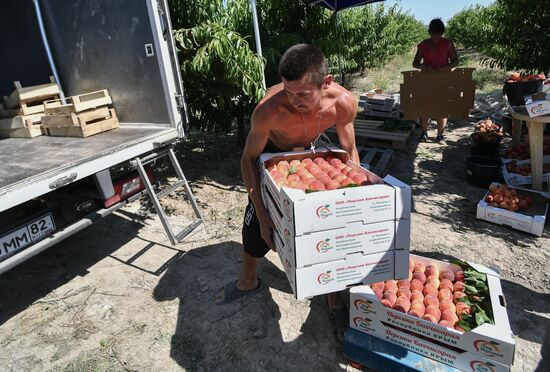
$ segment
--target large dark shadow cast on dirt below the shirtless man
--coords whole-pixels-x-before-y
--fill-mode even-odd
[[[273,295],[279,295],[279,302],[290,301],[290,308],[292,303],[303,303],[280,296],[278,291],[291,293],[291,289],[284,272],[268,260],[259,260],[258,275],[270,288],[233,303],[214,304],[217,290],[236,278],[241,247],[236,242],[225,242],[189,251],[160,280],[154,298],[178,298],[180,304],[171,357],[189,371],[341,370],[338,361],[342,350],[331,335],[323,296],[309,302],[306,319],[296,320],[303,322],[297,337],[290,336],[294,327],[281,329],[289,318],[300,316],[281,314]],[[220,256],[226,264],[212,267]],[[203,287],[201,293],[197,283],[204,280],[208,289]],[[281,321],[282,316],[287,321]]]

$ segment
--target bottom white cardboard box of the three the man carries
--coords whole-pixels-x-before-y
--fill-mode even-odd
[[[296,299],[338,292],[349,286],[368,284],[409,274],[409,251],[390,250],[382,253],[354,253],[344,259],[296,268],[290,250],[278,232],[273,241]]]

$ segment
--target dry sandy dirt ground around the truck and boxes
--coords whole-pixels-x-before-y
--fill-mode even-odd
[[[550,326],[550,229],[535,237],[475,218],[484,190],[466,180],[472,124],[447,146],[396,152],[390,173],[412,185],[412,250],[497,268],[516,340],[514,371],[540,359]],[[435,135],[435,128],[430,133]],[[268,288],[216,306],[239,272],[246,193],[233,136],[178,148],[205,217],[172,247],[139,203],[0,276],[3,371],[355,370],[332,335],[323,297],[296,301],[276,253],[259,261]],[[167,201],[183,226],[183,193]]]

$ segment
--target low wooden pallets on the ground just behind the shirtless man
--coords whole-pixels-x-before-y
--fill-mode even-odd
[[[356,119],[355,142],[360,146],[393,148],[396,150],[405,150],[411,143],[414,125],[408,131],[386,132],[377,129],[383,122],[379,120]],[[327,135],[334,141],[338,139],[336,128],[330,128],[326,131]]]

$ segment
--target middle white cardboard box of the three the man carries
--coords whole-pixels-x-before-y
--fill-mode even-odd
[[[265,195],[273,224],[288,249],[289,261],[296,268],[340,260],[350,253],[381,253],[392,249],[409,250],[411,221],[397,220],[371,224],[355,222],[338,229],[294,236],[286,219]]]

